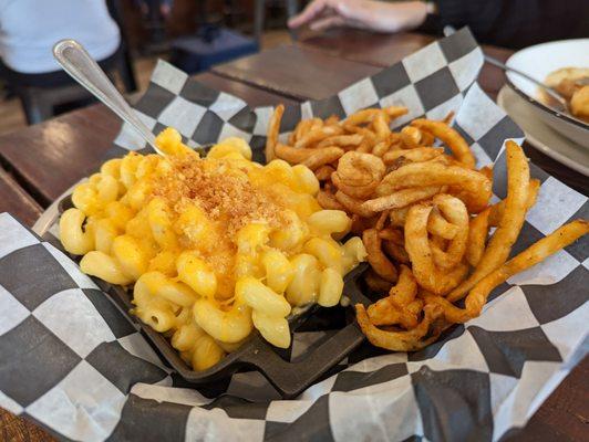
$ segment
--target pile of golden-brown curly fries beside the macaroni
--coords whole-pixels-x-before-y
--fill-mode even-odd
[[[493,288],[589,232],[587,220],[570,222],[508,261],[540,187],[521,147],[506,143],[507,196],[490,203],[493,169],[476,168],[452,115],[391,130],[406,112],[304,119],[283,144],[278,106],[266,145],[267,157],[312,169],[319,203],[351,217],[371,265],[365,282],[386,294],[355,305],[356,318],[373,345],[394,351],[418,350],[478,316]]]

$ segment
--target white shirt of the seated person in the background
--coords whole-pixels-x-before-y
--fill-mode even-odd
[[[99,61],[121,43],[105,0],[0,0],[0,57],[12,70],[61,70],[51,50],[62,39],[78,40]]]

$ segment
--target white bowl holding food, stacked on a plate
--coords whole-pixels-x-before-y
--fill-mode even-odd
[[[562,40],[536,44],[513,54],[506,63],[544,81],[548,74],[561,67],[589,67],[589,39]],[[589,125],[571,116],[558,113],[538,102],[538,86],[520,75],[507,73],[507,84],[533,106],[538,118],[547,125],[589,149]]]

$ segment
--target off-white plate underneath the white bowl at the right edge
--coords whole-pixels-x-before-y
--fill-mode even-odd
[[[503,86],[497,104],[526,133],[526,139],[538,150],[589,177],[589,150],[552,130],[536,117],[534,107],[510,87]]]

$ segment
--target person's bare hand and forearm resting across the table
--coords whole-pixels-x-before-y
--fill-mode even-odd
[[[423,1],[313,0],[288,24],[290,28],[309,25],[312,30],[350,27],[401,32],[417,28],[427,12],[428,7]]]

